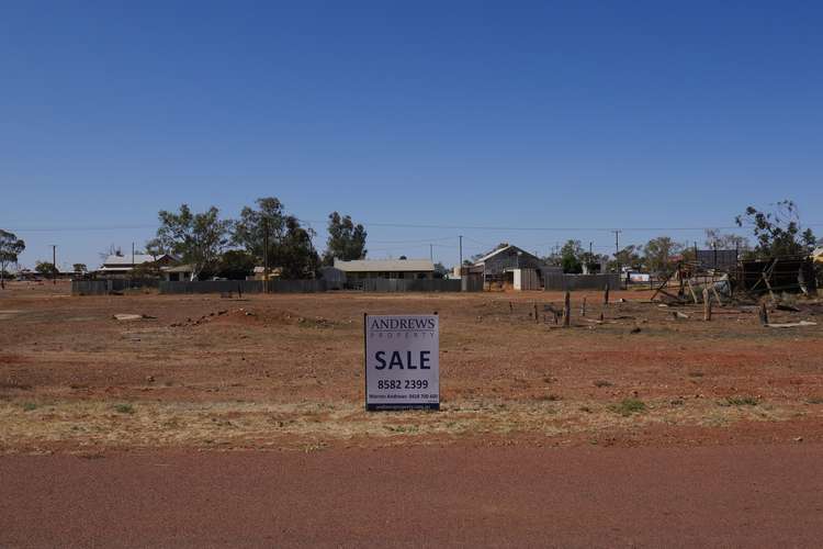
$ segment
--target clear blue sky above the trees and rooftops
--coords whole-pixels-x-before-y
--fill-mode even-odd
[[[820,235],[821,29],[799,1],[4,2],[0,227],[90,267],[160,209],[264,195],[319,247],[338,210],[372,257],[447,265],[458,234],[608,251],[587,227],[702,240],[657,228],[785,198]]]

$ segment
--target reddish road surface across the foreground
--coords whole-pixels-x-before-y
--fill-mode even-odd
[[[0,546],[819,547],[823,445],[0,458]]]

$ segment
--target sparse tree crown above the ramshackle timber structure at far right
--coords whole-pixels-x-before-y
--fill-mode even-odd
[[[811,228],[802,229],[798,206],[791,200],[778,202],[770,212],[748,206],[734,221],[739,227],[751,227],[754,233],[756,258],[809,255],[814,249],[814,233]]]

